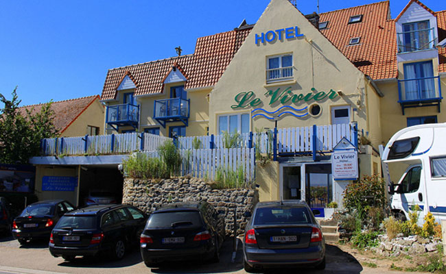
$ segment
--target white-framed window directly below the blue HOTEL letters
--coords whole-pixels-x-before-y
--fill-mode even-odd
[[[293,77],[293,55],[275,55],[268,57],[266,64],[266,82],[277,82]]]

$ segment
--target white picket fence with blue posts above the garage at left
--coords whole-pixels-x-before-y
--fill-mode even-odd
[[[87,147],[85,150],[85,136],[83,137],[64,137],[47,138],[45,142],[44,155],[104,155],[112,153],[132,153],[141,150],[141,141],[143,141],[143,151],[156,150],[165,140],[170,138],[154,134],[132,132],[125,134],[87,136]],[[172,139],[171,139],[172,140]],[[57,146],[56,146],[57,142]],[[113,142],[113,145],[112,145]]]

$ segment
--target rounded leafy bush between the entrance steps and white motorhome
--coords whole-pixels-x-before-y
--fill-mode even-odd
[[[384,179],[378,175],[364,176],[359,182],[349,184],[344,191],[344,207],[347,211],[357,211],[359,218],[364,220],[371,208],[386,206]]]

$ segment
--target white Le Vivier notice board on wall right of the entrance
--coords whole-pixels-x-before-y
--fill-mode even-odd
[[[333,179],[357,179],[357,151],[334,151],[331,153],[331,172]]]

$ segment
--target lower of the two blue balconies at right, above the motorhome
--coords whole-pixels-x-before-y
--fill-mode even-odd
[[[423,77],[398,80],[398,92],[401,109],[436,105],[440,112],[441,82],[440,77]]]

